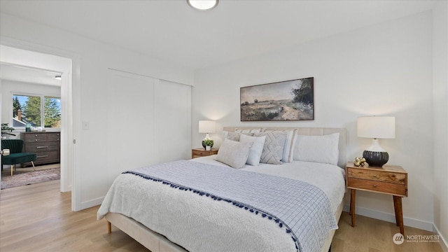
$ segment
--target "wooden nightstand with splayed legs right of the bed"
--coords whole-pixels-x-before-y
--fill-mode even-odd
[[[407,197],[407,172],[400,166],[383,165],[383,167],[356,167],[348,162],[345,167],[347,188],[350,189],[351,226],[355,226],[356,190],[373,193],[385,193],[393,196],[395,223],[403,228],[402,197]]]

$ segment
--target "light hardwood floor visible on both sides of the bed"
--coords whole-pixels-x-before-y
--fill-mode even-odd
[[[106,221],[97,221],[98,207],[71,211],[71,193],[59,193],[59,181],[1,190],[0,251],[148,251]],[[332,251],[442,251],[437,243],[393,244],[393,223],[356,216],[356,228],[343,213]],[[430,232],[405,227],[406,235]]]

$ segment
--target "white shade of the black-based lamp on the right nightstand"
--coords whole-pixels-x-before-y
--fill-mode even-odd
[[[365,116],[358,118],[358,137],[394,139],[394,116]]]

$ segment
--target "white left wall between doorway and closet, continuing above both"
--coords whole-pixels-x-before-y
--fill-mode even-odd
[[[63,57],[72,57],[74,64],[74,104],[76,151],[74,156],[75,178],[73,195],[79,195],[75,210],[92,207],[99,198],[94,188],[111,185],[111,179],[102,176],[109,172],[105,160],[109,157],[98,151],[106,143],[108,134],[104,130],[109,108],[106,102],[108,69],[119,69],[143,76],[170,80],[176,83],[193,84],[193,70],[140,55],[130,50],[92,41],[66,31],[38,25],[34,22],[1,13],[1,44],[41,52],[57,52]],[[125,87],[123,87],[125,88]],[[90,123],[90,130],[80,130],[83,121]],[[130,126],[132,127],[132,126]],[[140,130],[132,128],[132,130]],[[98,153],[91,158],[90,153]],[[86,158],[88,157],[88,158]],[[125,157],[123,157],[125,158]],[[78,180],[78,181],[77,181]]]

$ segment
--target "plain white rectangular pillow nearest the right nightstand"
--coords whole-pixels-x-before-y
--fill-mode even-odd
[[[323,136],[297,135],[294,160],[337,165],[339,133]]]

